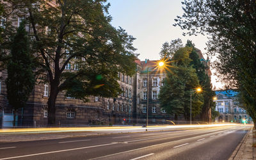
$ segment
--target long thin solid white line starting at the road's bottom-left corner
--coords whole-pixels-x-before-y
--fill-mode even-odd
[[[86,148],[94,148],[94,147],[101,147],[101,146],[106,146],[106,145],[115,145],[116,143],[107,143],[104,145],[93,145],[93,146],[89,146],[89,147],[81,147],[81,148],[72,148],[72,149],[67,149],[67,150],[56,150],[56,151],[52,151],[52,152],[42,152],[39,154],[28,154],[28,155],[24,155],[24,156],[15,156],[15,157],[6,157],[6,158],[1,158],[2,159],[15,159],[15,158],[21,158],[21,157],[31,157],[31,156],[38,156],[38,155],[42,155],[42,154],[53,154],[53,153],[58,153],[58,152],[67,152],[70,150],[81,150],[81,149],[86,149]]]

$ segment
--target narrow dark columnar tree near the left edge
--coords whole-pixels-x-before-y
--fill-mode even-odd
[[[6,79],[7,99],[16,117],[17,109],[25,107],[35,84],[35,75],[32,70],[33,56],[29,49],[29,38],[24,23],[20,25],[12,40],[9,56]],[[13,124],[15,124],[15,118]]]

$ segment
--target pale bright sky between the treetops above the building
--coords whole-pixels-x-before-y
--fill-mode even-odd
[[[183,44],[192,40],[195,47],[203,54],[207,38],[205,36],[182,36],[182,29],[174,27],[177,15],[182,15],[182,0],[108,0],[111,4],[109,14],[113,17],[112,25],[124,28],[129,35],[136,38],[134,47],[138,49],[140,60],[159,60],[159,52],[164,42],[180,38]],[[204,54],[204,57],[207,56]],[[216,77],[212,76],[212,83]]]

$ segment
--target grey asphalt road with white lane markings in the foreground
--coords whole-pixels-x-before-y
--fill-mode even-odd
[[[0,159],[228,159],[250,127],[154,131],[0,144]]]

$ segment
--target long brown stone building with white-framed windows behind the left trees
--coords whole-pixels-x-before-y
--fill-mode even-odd
[[[53,6],[54,1],[49,1]],[[22,15],[22,14],[20,14]],[[19,26],[25,16],[13,16],[13,26]],[[6,19],[4,19],[6,20]],[[3,20],[1,20],[2,22]],[[31,28],[26,30],[31,32]],[[202,53],[198,50],[202,58]],[[89,97],[88,102],[66,96],[60,92],[56,99],[56,125],[164,124],[172,116],[159,107],[158,94],[166,77],[166,70],[157,67],[158,61],[136,60],[136,74],[132,77],[118,73],[122,93],[118,97]],[[68,63],[65,72],[76,72],[76,63]],[[0,71],[0,111],[13,113],[6,96],[6,70]],[[19,109],[17,125],[47,125],[49,85],[37,81],[25,108]],[[148,101],[148,110],[147,110]],[[2,115],[3,116],[3,115]]]

